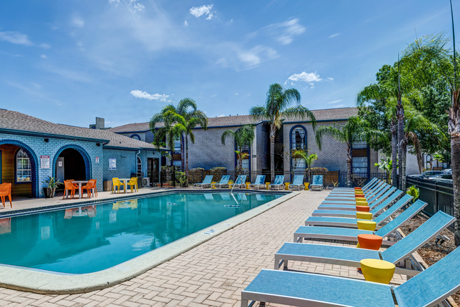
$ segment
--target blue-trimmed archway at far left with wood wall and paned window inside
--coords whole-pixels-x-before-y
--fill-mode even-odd
[[[0,184],[10,183],[13,197],[39,197],[38,160],[17,140],[0,140]]]

